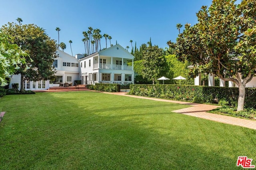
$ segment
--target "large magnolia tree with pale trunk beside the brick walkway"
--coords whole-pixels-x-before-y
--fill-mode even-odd
[[[176,42],[177,56],[194,64],[192,75],[212,73],[239,89],[237,111],[244,110],[245,86],[256,74],[256,0],[213,0],[185,25]]]

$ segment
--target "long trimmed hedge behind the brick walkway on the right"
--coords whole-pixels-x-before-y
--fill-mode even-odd
[[[194,103],[226,103],[236,106],[239,90],[237,87],[195,85],[130,85],[129,94]],[[256,88],[246,88],[245,107],[256,108]]]

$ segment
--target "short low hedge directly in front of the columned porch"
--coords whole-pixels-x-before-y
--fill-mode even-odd
[[[88,89],[106,92],[120,92],[121,86],[119,84],[101,84],[87,85]]]

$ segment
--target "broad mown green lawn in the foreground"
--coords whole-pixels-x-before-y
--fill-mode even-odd
[[[220,169],[256,165],[256,130],[190,117],[187,106],[91,91],[7,95],[0,169]]]

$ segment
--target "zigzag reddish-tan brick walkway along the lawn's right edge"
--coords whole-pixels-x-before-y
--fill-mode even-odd
[[[104,92],[104,93],[107,93],[107,92]],[[236,125],[236,126],[241,126],[241,127],[246,127],[246,128],[251,128],[251,129],[256,130],[256,121],[250,121],[248,119],[241,119],[241,118],[218,115],[218,114],[206,112],[206,111],[210,111],[212,109],[219,107],[219,106],[215,106],[215,105],[188,103],[188,102],[183,102],[183,101],[172,101],[172,100],[166,100],[166,99],[156,99],[156,98],[151,98],[151,97],[127,95],[126,92],[108,93],[108,94],[122,95],[122,96],[134,97],[134,98],[140,98],[140,99],[149,99],[149,100],[154,100],[154,101],[179,103],[179,104],[183,104],[183,105],[190,105],[191,107],[172,111],[172,112],[181,113],[184,115],[190,115],[190,116],[199,117],[202,119],[208,119],[211,121],[216,121],[216,122],[221,122],[221,123],[226,123],[226,124],[230,124],[230,125]]]

